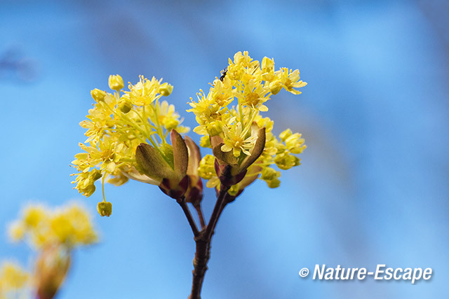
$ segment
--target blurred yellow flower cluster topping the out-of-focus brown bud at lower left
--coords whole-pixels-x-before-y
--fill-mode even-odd
[[[59,209],[30,205],[22,211],[21,218],[11,224],[9,235],[15,242],[26,239],[36,249],[51,245],[72,249],[98,239],[91,216],[76,204]]]

